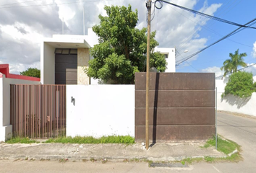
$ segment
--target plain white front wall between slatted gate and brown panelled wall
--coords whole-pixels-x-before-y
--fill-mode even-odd
[[[135,86],[67,85],[67,136],[112,135],[135,136]]]

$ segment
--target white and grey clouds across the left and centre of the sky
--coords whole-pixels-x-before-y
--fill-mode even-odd
[[[82,1],[82,0],[80,0]],[[22,2],[22,1],[20,1]],[[85,6],[85,28],[99,24],[98,14],[106,15],[105,5],[128,6],[138,10],[139,21],[137,27],[147,27],[147,9],[144,1],[88,1],[87,3],[67,3],[64,0],[31,1],[22,5],[44,5],[26,8],[0,7],[0,61],[9,63],[12,71],[23,71],[23,68],[40,64],[40,39],[61,34],[62,17],[64,17],[65,34],[83,34],[82,6]],[[197,0],[174,0],[174,4],[193,9]],[[1,0],[1,4],[9,4],[8,0]],[[56,3],[56,4],[54,4]],[[17,5],[16,5],[17,6]],[[205,3],[201,12],[213,15],[221,4]],[[184,12],[174,6],[163,4],[163,8],[155,9],[155,17],[151,23],[151,30],[156,30],[156,40],[160,47],[176,47],[179,52],[189,50],[186,56],[205,47],[207,38],[200,37],[199,31],[208,19]],[[87,33],[87,30],[85,31]],[[256,46],[256,43],[255,43]],[[182,58],[182,57],[178,57]],[[190,59],[194,61],[197,57]]]

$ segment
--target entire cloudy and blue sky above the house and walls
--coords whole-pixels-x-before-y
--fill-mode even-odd
[[[255,0],[166,0],[205,14],[241,25],[256,17]],[[137,28],[147,27],[145,0],[0,0],[0,63],[9,63],[13,74],[27,68],[40,68],[40,43],[43,37],[62,33],[82,35],[82,12],[85,28],[99,24],[98,14],[106,15],[105,5],[128,6],[138,10]],[[160,4],[156,4],[160,6]],[[238,28],[201,17],[175,6],[164,4],[152,9],[151,31],[161,48],[176,48],[176,61],[214,43]],[[256,27],[256,25],[252,25]],[[85,30],[87,34],[87,30]],[[176,66],[176,72],[213,72],[221,76],[223,61],[229,53],[247,53],[244,62],[256,63],[256,30],[244,29]],[[256,65],[245,68],[256,75]]]

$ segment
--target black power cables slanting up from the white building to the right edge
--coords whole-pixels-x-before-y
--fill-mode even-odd
[[[249,26],[254,25],[254,24],[256,23],[255,20],[256,20],[256,18],[255,18],[255,19],[252,19],[252,20],[249,21],[249,22],[247,22],[245,25],[249,25],[249,24],[250,24]],[[252,22],[253,22],[253,23],[252,23]],[[234,34],[240,32],[240,31],[242,31],[242,30],[244,30],[244,28],[242,28],[242,27],[237,28],[236,30],[230,32],[228,35],[222,37],[221,39],[219,39],[219,40],[217,40],[216,42],[214,42],[214,43],[208,45],[207,47],[205,47],[205,48],[203,48],[203,49],[197,51],[196,53],[193,53],[192,55],[188,56],[187,58],[184,58],[184,59],[182,59],[182,60],[180,60],[180,61],[177,61],[176,66],[179,66],[179,64],[183,63],[184,61],[187,61],[188,59],[192,58],[193,56],[196,56],[198,53],[201,53],[203,50],[205,50],[205,49],[207,49],[207,48],[210,48],[210,46],[215,45],[216,43],[219,43],[220,41],[225,40],[227,37],[230,37],[230,36],[232,36],[232,35],[234,35]]]

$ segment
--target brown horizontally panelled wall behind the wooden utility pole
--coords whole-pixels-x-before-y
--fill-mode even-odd
[[[135,74],[135,141],[145,141],[146,73]],[[201,141],[215,133],[215,76],[150,73],[149,139]]]

